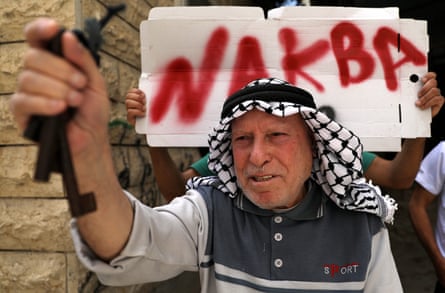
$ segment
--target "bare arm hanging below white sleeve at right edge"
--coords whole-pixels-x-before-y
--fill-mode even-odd
[[[433,263],[441,284],[445,284],[445,258],[440,253],[434,236],[434,228],[428,215],[428,206],[437,196],[415,183],[409,201],[409,213],[414,230]]]

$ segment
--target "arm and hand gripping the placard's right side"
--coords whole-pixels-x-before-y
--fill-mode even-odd
[[[422,82],[416,106],[422,110],[431,109],[434,117],[444,103],[444,97],[437,88],[436,74],[428,72],[422,78]],[[392,160],[377,156],[365,170],[365,177],[382,187],[394,189],[411,187],[424,155],[425,140],[425,138],[405,139],[401,151]]]

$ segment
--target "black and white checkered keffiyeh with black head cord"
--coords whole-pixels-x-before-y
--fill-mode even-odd
[[[230,127],[233,119],[253,109],[279,117],[299,113],[315,140],[312,179],[339,207],[373,213],[392,223],[397,204],[363,177],[360,139],[317,110],[311,94],[276,78],[255,80],[226,100],[221,120],[209,135],[208,166],[217,178],[195,178],[189,187],[217,184],[231,197],[242,192],[233,166]]]

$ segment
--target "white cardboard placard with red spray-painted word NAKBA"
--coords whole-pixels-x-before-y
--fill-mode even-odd
[[[427,72],[425,21],[397,8],[157,7],[141,23],[147,115],[136,130],[152,146],[207,146],[228,95],[260,77],[302,87],[370,151],[430,135],[414,102]],[[415,81],[415,77],[419,80]]]

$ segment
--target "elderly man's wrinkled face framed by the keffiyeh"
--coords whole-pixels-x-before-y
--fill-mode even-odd
[[[238,184],[263,209],[289,208],[306,193],[312,139],[300,115],[277,117],[250,111],[232,122]]]

